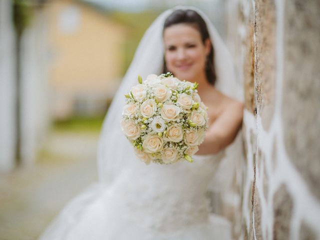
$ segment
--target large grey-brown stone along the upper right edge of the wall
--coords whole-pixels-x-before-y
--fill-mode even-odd
[[[286,0],[284,9],[284,142],[320,199],[320,1]]]

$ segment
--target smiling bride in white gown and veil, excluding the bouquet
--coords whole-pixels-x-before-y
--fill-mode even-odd
[[[167,71],[199,83],[209,128],[193,163],[145,165],[120,130],[123,95],[138,74]],[[163,12],[143,36],[104,121],[100,182],[75,197],[40,239],[231,239],[228,221],[210,214],[205,196],[241,124],[242,103],[230,96],[232,61],[207,17],[193,7]]]

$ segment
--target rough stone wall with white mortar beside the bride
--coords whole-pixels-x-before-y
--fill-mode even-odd
[[[226,8],[245,95],[234,236],[320,239],[320,1],[228,0]]]

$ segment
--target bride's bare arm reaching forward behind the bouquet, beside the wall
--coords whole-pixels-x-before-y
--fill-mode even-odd
[[[243,103],[232,101],[209,126],[196,154],[214,154],[229,145],[238,132],[243,115]]]

